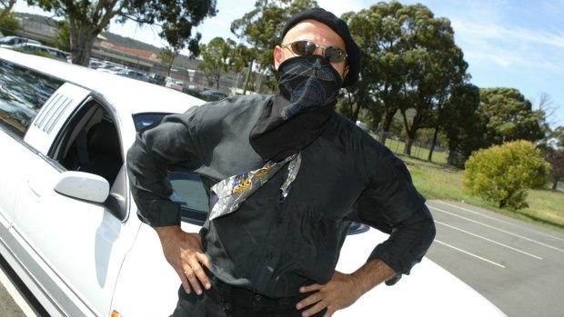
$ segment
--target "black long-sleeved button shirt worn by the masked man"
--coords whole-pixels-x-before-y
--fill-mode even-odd
[[[168,198],[168,169],[199,173],[209,192],[222,179],[262,167],[248,135],[271,103],[267,95],[227,98],[166,116],[138,134],[127,166],[139,218],[152,226],[180,223],[179,207]],[[284,171],[235,213],[206,222],[200,233],[219,279],[272,298],[326,283],[353,221],[391,233],[370,259],[398,274],[421,260],[434,223],[405,164],[388,148],[335,113],[327,130],[301,151],[301,160],[282,203]]]

